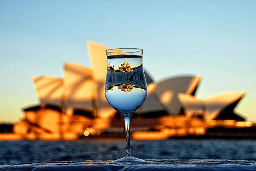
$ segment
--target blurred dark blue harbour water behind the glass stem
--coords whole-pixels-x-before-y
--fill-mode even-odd
[[[0,164],[114,160],[125,156],[125,139],[79,141],[0,141]],[[256,160],[255,139],[169,139],[131,141],[142,159]]]

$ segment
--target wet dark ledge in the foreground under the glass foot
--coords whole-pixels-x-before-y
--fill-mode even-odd
[[[106,160],[0,165],[0,171],[253,171],[256,161],[218,159],[145,159],[146,164],[109,164]]]

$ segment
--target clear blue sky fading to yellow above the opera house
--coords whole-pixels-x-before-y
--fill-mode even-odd
[[[0,122],[36,104],[33,75],[90,66],[87,41],[144,49],[155,81],[201,75],[199,98],[245,91],[236,107],[256,121],[256,1],[0,1]]]

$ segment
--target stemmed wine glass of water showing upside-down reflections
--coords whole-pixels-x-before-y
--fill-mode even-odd
[[[108,49],[105,97],[108,103],[125,120],[126,156],[111,163],[136,163],[145,160],[131,157],[130,118],[143,104],[147,96],[147,84],[143,71],[143,49]]]

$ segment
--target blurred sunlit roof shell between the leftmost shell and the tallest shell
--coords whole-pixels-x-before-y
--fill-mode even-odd
[[[93,99],[96,97],[96,84],[92,71],[79,64],[65,63],[64,70],[64,105],[67,113],[73,109],[93,111]]]

